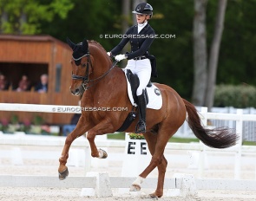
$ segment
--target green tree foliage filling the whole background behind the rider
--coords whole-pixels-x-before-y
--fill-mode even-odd
[[[120,38],[100,38],[104,34],[121,34],[120,0],[0,0],[0,16],[8,13],[8,21],[2,21],[3,33],[43,34],[54,36],[63,42],[66,37],[74,42],[83,38],[100,42],[110,50]],[[131,1],[133,2],[133,1]],[[182,97],[190,99],[194,82],[193,21],[194,1],[148,0],[154,8],[150,25],[156,34],[175,35],[173,39],[155,39],[150,54],[157,59],[159,77],[153,81],[167,84]],[[133,4],[133,3],[131,3]],[[213,39],[218,1],[207,1],[207,50]],[[228,1],[220,57],[217,84],[247,83],[256,86],[256,0]],[[130,10],[134,10],[131,6]],[[19,22],[22,13],[27,23]],[[2,17],[1,17],[2,18]],[[4,17],[3,17],[4,18]],[[132,13],[128,16],[132,22]]]

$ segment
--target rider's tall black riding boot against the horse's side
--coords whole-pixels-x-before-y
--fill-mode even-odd
[[[140,120],[136,126],[135,133],[146,133],[146,96],[145,91],[142,91],[142,94],[138,96],[138,102],[139,102],[139,117]]]

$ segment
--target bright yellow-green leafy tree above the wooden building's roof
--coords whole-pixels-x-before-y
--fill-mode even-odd
[[[1,33],[38,34],[41,20],[50,23],[55,15],[65,18],[73,6],[71,0],[0,1]]]

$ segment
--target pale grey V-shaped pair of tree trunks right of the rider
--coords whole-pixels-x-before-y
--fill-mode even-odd
[[[207,65],[207,0],[194,0],[194,90],[193,103],[213,107],[220,41],[224,28],[226,0],[219,0],[213,42]]]

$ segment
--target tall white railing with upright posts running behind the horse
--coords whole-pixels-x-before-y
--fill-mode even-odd
[[[54,105],[30,105],[30,104],[8,104],[0,103],[0,110],[4,111],[26,111],[26,112],[45,112],[45,113],[75,113],[72,110],[67,110],[69,106],[54,106]],[[71,107],[71,106],[70,106]],[[72,106],[73,107],[73,106]],[[54,109],[53,109],[54,108]],[[60,108],[60,109],[56,109]],[[76,107],[74,107],[76,108]],[[61,111],[61,112],[60,112]],[[76,110],[75,110],[76,111]],[[77,107],[79,111],[79,107]],[[242,146],[242,136],[243,136],[243,122],[245,121],[256,121],[256,114],[245,114],[243,110],[237,109],[236,113],[208,113],[206,107],[202,107],[200,111],[200,118],[204,125],[207,125],[208,120],[233,120],[235,121],[236,133],[240,134],[240,141],[237,146],[230,147],[225,150],[216,150],[202,145],[201,143],[195,144],[180,144],[180,143],[168,143],[167,149],[170,150],[189,150],[189,151],[199,151],[200,161],[199,161],[199,172],[200,177],[203,175],[206,153],[207,152],[232,152],[235,155],[234,164],[234,178],[240,178],[240,166],[241,166],[241,154],[248,153],[256,154],[255,146]],[[256,134],[256,133],[255,133]],[[26,137],[25,137],[26,136]],[[49,137],[49,136],[48,136]],[[43,138],[43,136],[36,136],[36,138]],[[27,135],[6,135],[0,134],[0,144],[2,145],[34,145],[34,146],[63,146],[64,137],[51,137],[51,139],[33,139]],[[102,144],[101,144],[102,143]],[[108,147],[108,146],[122,146],[126,145],[126,141],[120,140],[99,140],[97,142],[98,146]],[[75,140],[73,147],[80,146],[89,147],[89,143],[86,139]]]

